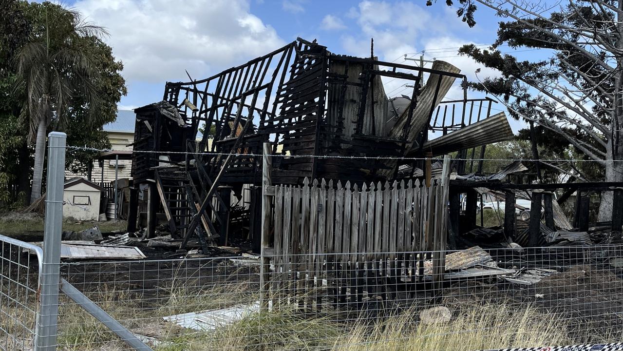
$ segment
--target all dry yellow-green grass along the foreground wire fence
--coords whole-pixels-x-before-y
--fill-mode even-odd
[[[164,322],[162,317],[247,304],[257,301],[257,296],[249,292],[248,282],[202,288],[184,279],[171,283],[161,288],[162,296],[152,301],[149,308],[140,305],[141,296],[105,284],[89,297],[133,332],[161,340],[152,345],[155,351],[470,351],[578,342],[568,337],[569,320],[558,315],[544,314],[530,305],[476,302],[446,304],[452,318],[437,324],[420,322],[419,307],[378,319],[348,321],[330,310],[304,315],[295,305],[282,305],[249,314],[216,330],[183,329]],[[195,289],[188,287],[193,285]],[[59,312],[59,351],[128,350],[103,324],[66,297],[62,297]],[[11,327],[7,320],[0,322]],[[608,335],[599,337],[617,340]]]

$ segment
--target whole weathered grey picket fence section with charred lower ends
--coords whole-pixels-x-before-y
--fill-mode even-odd
[[[430,186],[409,180],[359,188],[307,178],[303,186],[274,186],[270,289],[320,309],[325,302],[361,303],[366,294],[386,299],[397,283],[426,275],[440,282],[447,204],[447,176]]]

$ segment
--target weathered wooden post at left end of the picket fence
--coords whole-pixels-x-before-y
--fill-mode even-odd
[[[270,257],[266,256],[266,251],[270,246],[271,195],[269,186],[272,183],[271,170],[270,143],[264,143],[264,156],[262,156],[262,247],[260,248],[260,257],[262,257],[262,265],[260,266],[260,305],[262,307],[268,307],[268,301],[265,301],[265,296],[269,290],[270,279]]]

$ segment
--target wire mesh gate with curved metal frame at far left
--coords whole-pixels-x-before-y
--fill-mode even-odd
[[[41,252],[34,245],[0,237],[0,350],[31,350],[36,334]],[[36,255],[24,253],[29,249]]]

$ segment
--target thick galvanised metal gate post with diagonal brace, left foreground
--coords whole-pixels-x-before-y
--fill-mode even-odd
[[[39,314],[35,326],[35,351],[56,350],[66,139],[65,133],[48,134],[45,229],[43,261],[42,266],[39,267],[41,286],[39,287]]]

